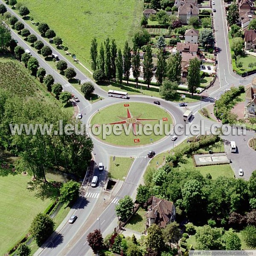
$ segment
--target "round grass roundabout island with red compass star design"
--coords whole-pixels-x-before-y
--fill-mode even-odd
[[[165,130],[172,129],[172,117],[169,112],[157,105],[139,102],[117,103],[103,108],[92,117],[90,123],[92,126],[98,127],[95,128],[96,131],[101,129],[99,135],[93,134],[93,136],[105,143],[121,146],[141,146],[155,143],[166,136]],[[107,124],[111,126],[112,132],[103,139],[103,125]],[[113,133],[114,126],[120,127],[120,135]],[[151,127],[145,131],[148,126]],[[159,134],[161,128],[163,132]]]

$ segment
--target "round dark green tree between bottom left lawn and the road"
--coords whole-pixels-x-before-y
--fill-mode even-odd
[[[55,223],[49,215],[38,213],[31,223],[30,233],[35,238],[38,246],[41,246],[52,234],[54,228]]]

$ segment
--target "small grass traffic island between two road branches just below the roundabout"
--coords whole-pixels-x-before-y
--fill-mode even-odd
[[[134,161],[134,158],[130,157],[116,157],[115,163],[113,162],[113,156],[110,157],[110,167],[108,171],[108,177],[116,180],[125,180],[125,177]]]

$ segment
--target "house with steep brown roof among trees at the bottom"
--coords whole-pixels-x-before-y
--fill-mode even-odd
[[[173,202],[151,197],[151,206],[145,214],[147,218],[146,228],[152,224],[157,224],[165,228],[167,224],[175,221],[176,209]]]

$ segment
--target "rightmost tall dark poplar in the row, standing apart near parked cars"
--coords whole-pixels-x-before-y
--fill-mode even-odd
[[[193,58],[189,61],[187,83],[189,92],[194,95],[196,88],[200,85],[200,61],[197,58]]]

